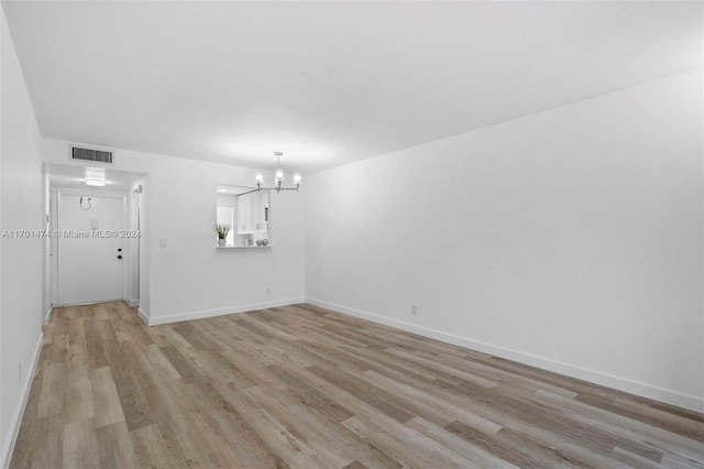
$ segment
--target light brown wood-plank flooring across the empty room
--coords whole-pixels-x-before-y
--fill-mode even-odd
[[[44,334],[12,468],[704,467],[704,415],[310,305]]]

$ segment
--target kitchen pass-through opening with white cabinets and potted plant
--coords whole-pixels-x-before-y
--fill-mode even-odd
[[[270,189],[219,184],[217,190],[217,246],[268,248]]]

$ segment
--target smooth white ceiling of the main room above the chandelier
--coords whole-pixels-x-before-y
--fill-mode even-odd
[[[44,137],[302,173],[702,66],[702,2],[2,4]]]

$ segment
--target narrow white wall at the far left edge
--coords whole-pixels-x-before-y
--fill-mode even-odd
[[[41,138],[2,9],[0,17],[0,232],[41,230]],[[41,238],[0,237],[2,467],[11,456],[41,346],[42,244]]]

